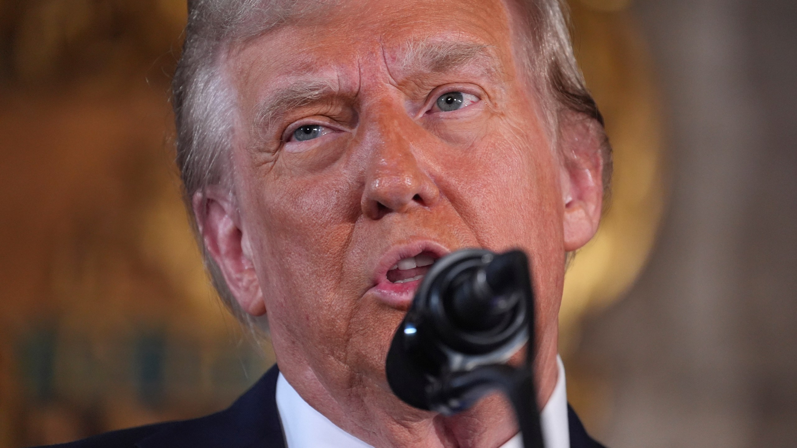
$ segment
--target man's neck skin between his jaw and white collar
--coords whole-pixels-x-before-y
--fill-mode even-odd
[[[541,344],[545,350],[535,360],[540,409],[548,403],[558,378],[556,341],[552,342]],[[519,353],[510,364],[522,356]],[[352,373],[347,387],[325,387],[309,369],[298,378],[290,373],[298,372],[283,374],[305,401],[336,426],[377,448],[496,448],[518,430],[514,411],[501,394],[488,395],[468,411],[445,417],[407,406],[386,382],[376,383],[364,375]]]

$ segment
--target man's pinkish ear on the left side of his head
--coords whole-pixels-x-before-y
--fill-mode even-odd
[[[199,234],[210,257],[222,271],[238,305],[252,316],[265,314],[265,302],[255,273],[249,235],[241,226],[234,196],[220,186],[206,187],[191,198]]]

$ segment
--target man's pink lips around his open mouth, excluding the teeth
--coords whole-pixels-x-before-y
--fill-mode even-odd
[[[435,257],[435,260],[439,260],[450,253],[451,250],[438,242],[428,240],[391,247],[391,249],[387,250],[382,258],[380,258],[379,263],[377,263],[372,279],[373,286],[371,289],[368,289],[367,293],[374,294],[379,301],[391,308],[396,308],[401,311],[409,309],[415,291],[418,290],[418,286],[421,285],[423,279],[407,281],[406,283],[393,283],[387,280],[387,271],[398,263],[398,260],[414,257],[424,252],[430,253]]]

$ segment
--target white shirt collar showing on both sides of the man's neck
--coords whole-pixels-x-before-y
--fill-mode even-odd
[[[567,387],[564,365],[556,357],[559,378],[551,398],[540,412],[545,448],[570,448],[567,422]],[[348,434],[313,409],[280,374],[277,379],[277,409],[280,411],[282,429],[288,448],[373,448],[359,438]],[[520,434],[509,439],[501,448],[520,448]]]

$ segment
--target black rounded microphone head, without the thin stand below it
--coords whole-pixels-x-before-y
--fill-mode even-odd
[[[419,409],[448,409],[440,402],[451,375],[508,360],[528,340],[529,285],[520,251],[459,250],[435,262],[387,353],[395,395]]]

